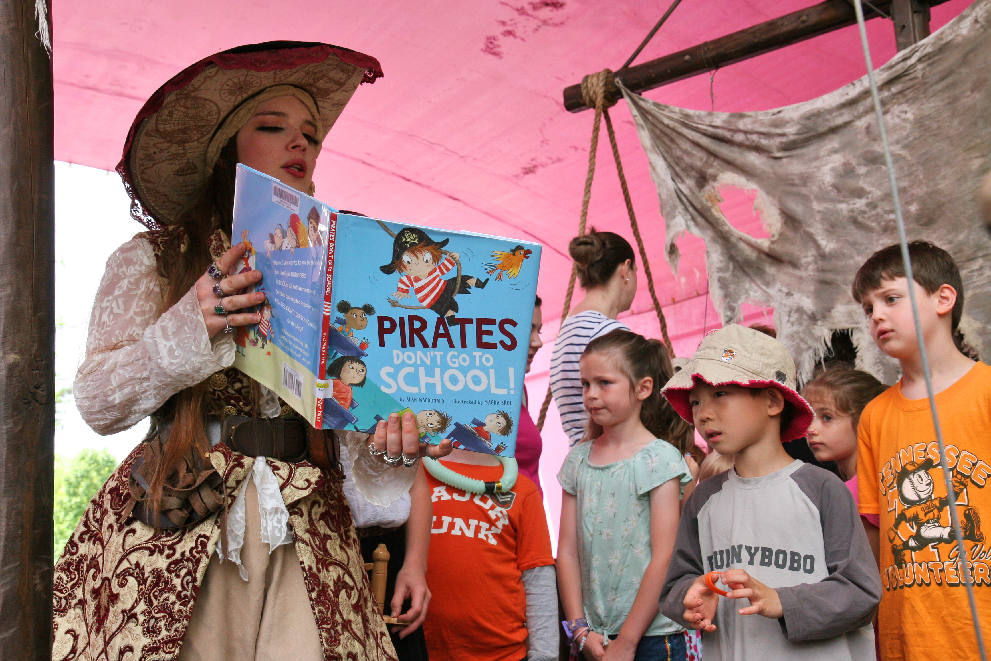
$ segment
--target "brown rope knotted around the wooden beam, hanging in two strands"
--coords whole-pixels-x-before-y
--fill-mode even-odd
[[[674,356],[674,349],[671,345],[671,338],[668,337],[668,324],[664,319],[664,312],[661,310],[661,302],[657,298],[654,290],[654,276],[650,273],[650,263],[647,261],[647,250],[643,246],[643,239],[640,237],[640,227],[636,222],[636,214],[633,212],[633,202],[629,196],[629,187],[626,185],[626,175],[623,174],[622,163],[619,161],[619,148],[616,146],[615,131],[612,129],[612,120],[609,118],[609,108],[615,105],[619,98],[619,88],[615,84],[613,73],[609,69],[603,69],[598,73],[590,73],[582,78],[582,101],[589,108],[596,109],[596,115],[592,120],[592,146],[589,149],[589,171],[585,175],[585,192],[582,195],[582,215],[578,222],[578,236],[585,234],[585,226],[589,219],[589,201],[592,199],[592,178],[596,173],[596,157],[599,152],[599,131],[602,127],[602,120],[606,118],[606,133],[609,136],[609,145],[612,148],[612,158],[616,162],[616,173],[619,175],[619,186],[622,188],[623,200],[626,202],[626,212],[629,214],[629,224],[633,230],[633,238],[636,239],[636,246],[640,251],[640,261],[643,262],[643,273],[647,276],[647,289],[650,290],[650,297],[654,302],[654,310],[657,318],[661,322],[661,335],[664,337],[664,344],[668,348],[668,354]],[[568,318],[571,311],[571,297],[575,293],[575,280],[578,277],[578,269],[575,265],[571,267],[571,279],[568,282],[568,291],[564,297],[564,309],[561,312],[561,323]],[[544,396],[544,403],[540,406],[540,416],[537,418],[537,429],[543,430],[544,420],[547,418],[547,409],[551,405],[551,386],[547,385],[547,394]]]

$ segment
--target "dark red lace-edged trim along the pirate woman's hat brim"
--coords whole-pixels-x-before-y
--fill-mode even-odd
[[[329,44],[297,49],[256,51],[254,53],[215,53],[185,67],[169,78],[162,87],[159,87],[148,101],[145,102],[141,110],[138,111],[137,117],[134,118],[134,122],[127,132],[127,140],[124,143],[124,152],[121,155],[121,161],[115,168],[117,173],[121,175],[121,178],[124,179],[124,185],[128,191],[131,190],[132,179],[127,157],[131,151],[134,136],[138,132],[138,127],[146,119],[162,110],[162,106],[165,103],[165,95],[188,85],[208,65],[216,64],[227,71],[242,68],[249,71],[275,71],[283,68],[293,68],[300,64],[322,62],[330,55],[336,55],[349,64],[364,68],[365,77],[362,78],[362,83],[374,83],[378,78],[385,75],[382,72],[382,64],[372,55],[365,55],[364,53],[358,53],[357,51],[338,46],[330,46]]]

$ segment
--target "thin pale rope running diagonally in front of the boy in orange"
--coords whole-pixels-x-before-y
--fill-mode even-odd
[[[891,158],[891,147],[888,145],[888,132],[884,128],[884,113],[881,110],[881,97],[877,91],[877,80],[874,78],[874,65],[871,62],[870,46],[867,44],[867,30],[864,26],[864,10],[861,0],[853,0],[853,9],[857,15],[857,26],[860,28],[860,43],[864,50],[864,60],[867,63],[867,80],[870,83],[871,96],[874,99],[874,114],[877,116],[878,132],[881,145],[884,147],[884,162],[888,168],[888,183],[891,185],[891,196],[895,203],[895,222],[898,225],[898,242],[902,248],[902,261],[905,263],[905,278],[909,283],[909,300],[912,303],[912,316],[916,324],[916,338],[919,342],[919,355],[922,358],[923,374],[926,377],[926,391],[929,393],[930,411],[933,413],[933,424],[936,427],[936,442],[939,445],[939,465],[942,477],[946,483],[946,500],[949,502],[949,520],[956,537],[958,562],[963,570],[964,586],[967,589],[967,600],[970,602],[970,616],[974,622],[974,633],[977,635],[977,647],[981,653],[981,661],[988,661],[984,649],[984,636],[981,633],[981,623],[977,618],[977,604],[974,601],[974,584],[967,567],[967,553],[963,547],[963,535],[960,534],[960,520],[956,511],[956,494],[949,468],[946,465],[946,448],[942,440],[942,429],[939,426],[939,415],[936,412],[936,393],[933,390],[933,374],[930,370],[929,356],[926,352],[926,339],[923,337],[923,326],[919,317],[919,303],[916,300],[915,277],[912,274],[912,259],[909,256],[909,240],[905,232],[905,218],[902,216],[902,201],[898,195],[898,181],[895,178],[895,164]]]

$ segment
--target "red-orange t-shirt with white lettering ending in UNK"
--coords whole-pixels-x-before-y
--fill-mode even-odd
[[[501,466],[441,463],[483,482],[502,476]],[[423,632],[431,661],[519,661],[527,636],[522,574],[554,564],[540,493],[522,475],[502,505],[429,473],[427,483],[434,513],[427,564],[433,599]]]

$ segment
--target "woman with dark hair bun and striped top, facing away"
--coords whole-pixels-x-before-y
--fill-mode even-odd
[[[596,228],[572,239],[568,253],[585,298],[561,324],[551,356],[550,383],[561,426],[570,445],[575,445],[582,440],[589,417],[582,403],[578,359],[597,337],[617,328],[629,330],[616,316],[629,309],[636,294],[636,257],[628,241]]]

